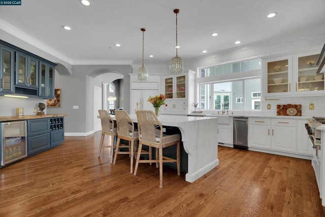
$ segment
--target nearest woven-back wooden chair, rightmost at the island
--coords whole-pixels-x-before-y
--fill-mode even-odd
[[[156,163],[159,166],[159,188],[163,188],[163,163],[177,163],[177,174],[180,175],[180,135],[163,134],[163,126],[157,116],[149,110],[138,110],[138,129],[139,129],[139,148],[137,154],[136,168],[134,175],[137,175],[139,163]],[[140,160],[140,151],[142,146],[147,145],[154,147],[156,150],[155,160],[149,157],[149,160]],[[163,155],[163,149],[172,145],[176,145],[176,159]]]

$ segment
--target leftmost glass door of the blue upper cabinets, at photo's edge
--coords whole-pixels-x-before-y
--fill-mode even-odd
[[[0,92],[12,93],[14,86],[14,50],[0,45]]]

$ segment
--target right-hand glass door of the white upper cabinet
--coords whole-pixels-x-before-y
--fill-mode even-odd
[[[299,95],[323,94],[324,73],[316,74],[319,54],[299,56],[296,72],[296,92]]]

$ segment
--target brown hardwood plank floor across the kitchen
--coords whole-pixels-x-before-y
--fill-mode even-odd
[[[0,169],[0,216],[324,216],[310,161],[218,148],[220,165],[194,183],[185,174],[97,157],[101,132]],[[109,142],[109,138],[105,139]]]

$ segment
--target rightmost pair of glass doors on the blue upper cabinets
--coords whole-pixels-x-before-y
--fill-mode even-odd
[[[53,99],[54,97],[54,66],[40,61],[40,97]]]

